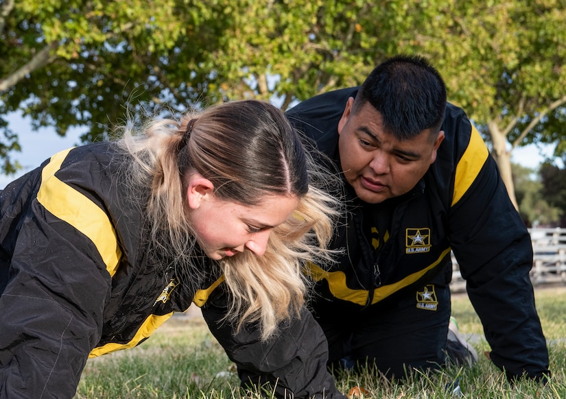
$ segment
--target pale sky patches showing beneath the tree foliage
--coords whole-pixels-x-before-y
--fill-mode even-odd
[[[23,169],[14,176],[4,176],[0,174],[0,189],[6,184],[15,180],[23,173],[39,166],[41,162],[56,154],[57,152],[80,145],[80,135],[84,130],[71,129],[67,136],[60,137],[51,128],[42,128],[33,131],[30,119],[24,119],[19,114],[9,114],[6,119],[10,123],[10,128],[19,135],[21,152],[12,152],[12,160],[18,160]],[[83,128],[84,129],[84,128]],[[536,169],[543,161],[544,156],[550,156],[554,147],[545,146],[541,149],[534,145],[520,147],[513,150],[512,162],[517,162],[526,167]]]

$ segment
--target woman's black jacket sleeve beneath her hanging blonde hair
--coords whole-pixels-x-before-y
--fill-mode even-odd
[[[324,334],[306,308],[300,318],[281,327],[275,337],[261,341],[252,328],[234,333],[233,326],[223,319],[226,300],[225,293],[216,294],[202,308],[202,315],[228,357],[236,363],[242,387],[268,389],[285,399],[345,398],[327,370]]]

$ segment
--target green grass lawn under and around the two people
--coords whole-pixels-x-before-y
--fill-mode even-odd
[[[484,356],[489,347],[480,339],[474,343],[480,360],[473,367],[447,367],[431,375],[416,373],[399,383],[367,372],[344,372],[337,378],[338,389],[347,394],[355,386],[364,387],[364,398],[453,398],[455,395],[447,385],[459,380],[460,398],[566,398],[566,288],[537,290],[536,307],[549,341],[553,373],[545,386],[529,380],[508,384]],[[467,296],[455,295],[452,309],[464,335],[483,337],[480,320]],[[233,363],[202,319],[181,316],[170,319],[137,348],[90,359],[75,399],[244,398],[238,387]],[[252,398],[260,396],[251,395]]]

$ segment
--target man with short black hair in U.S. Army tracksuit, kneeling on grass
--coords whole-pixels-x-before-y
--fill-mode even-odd
[[[446,96],[426,60],[397,56],[360,88],[287,112],[347,182],[349,212],[332,243],[345,252],[336,265],[309,264],[329,365],[367,362],[401,377],[475,361],[450,323],[453,251],[491,360],[510,379],[538,380],[550,372],[530,236],[480,134]]]

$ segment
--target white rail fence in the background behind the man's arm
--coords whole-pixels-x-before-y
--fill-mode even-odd
[[[533,263],[530,278],[533,285],[561,283],[566,285],[566,228],[530,229]],[[466,283],[452,254],[452,291],[464,291]]]

